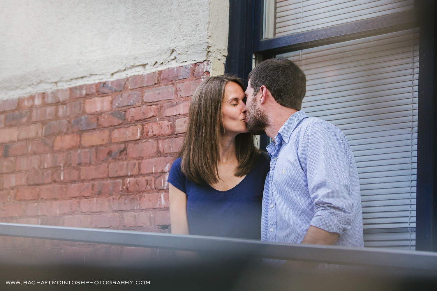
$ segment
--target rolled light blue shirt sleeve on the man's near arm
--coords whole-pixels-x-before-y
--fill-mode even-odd
[[[298,158],[314,203],[310,225],[340,236],[354,219],[351,155],[347,139],[338,128],[316,122],[302,130]]]

